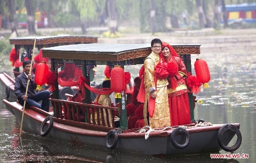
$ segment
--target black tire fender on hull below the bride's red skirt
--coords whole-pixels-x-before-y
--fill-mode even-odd
[[[178,134],[178,133],[181,133],[183,135],[185,135],[186,137],[186,141],[184,144],[178,144],[175,140],[175,136]],[[178,148],[178,149],[184,149],[186,148],[189,143],[190,143],[190,134],[188,133],[188,131],[184,128],[181,128],[181,127],[178,127],[176,129],[173,130],[172,134],[170,134],[170,142],[172,142],[173,146],[175,148]]]

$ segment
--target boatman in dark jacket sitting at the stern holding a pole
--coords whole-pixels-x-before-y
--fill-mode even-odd
[[[31,60],[26,60],[23,62],[24,73],[17,76],[15,81],[15,86],[14,86],[14,92],[15,92],[16,98],[20,105],[24,105],[24,101],[26,101],[26,106],[35,106],[39,109],[49,112],[50,91],[45,90],[37,93],[35,92],[35,89],[36,89],[36,83],[34,82],[35,76],[33,74],[30,74],[31,64],[32,64]],[[29,85],[28,85],[28,91],[26,96],[28,82],[29,82]],[[41,104],[38,103],[40,101],[41,101]]]

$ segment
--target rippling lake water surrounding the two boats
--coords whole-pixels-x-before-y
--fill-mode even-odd
[[[195,109],[195,119],[204,119],[215,124],[240,123],[242,145],[234,153],[249,154],[248,159],[211,159],[210,153],[185,156],[131,154],[126,151],[110,151],[54,142],[29,133],[23,133],[21,140],[14,115],[2,103],[4,98],[2,90],[0,92],[0,162],[24,162],[24,160],[27,162],[255,162],[256,63],[253,63],[255,54],[253,55],[243,58],[243,62],[233,61],[232,56],[224,59],[216,58],[216,54],[200,55],[209,65],[211,80],[209,88],[201,90],[196,95],[199,103],[196,104]],[[10,65],[3,64],[9,63],[8,57],[1,57],[0,72],[6,71],[11,74]],[[192,60],[194,63],[195,57]],[[136,71],[132,72],[134,68],[130,66],[125,68],[131,71],[133,78],[138,75]],[[97,72],[103,70],[104,67],[98,66],[96,80],[102,79]],[[220,153],[229,152],[222,150]]]

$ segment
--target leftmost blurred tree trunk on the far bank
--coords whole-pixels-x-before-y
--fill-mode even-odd
[[[18,20],[17,15],[15,12],[15,0],[9,0],[9,10],[10,10],[10,27],[12,30],[12,33],[15,31],[16,35],[18,36],[17,27],[18,27]]]

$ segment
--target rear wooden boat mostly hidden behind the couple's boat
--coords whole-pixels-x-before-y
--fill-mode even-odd
[[[32,59],[32,52],[34,46],[35,37],[19,37],[19,38],[10,38],[10,44],[14,44],[15,52],[17,55],[20,48],[24,48],[27,53],[28,59]],[[49,48],[52,46],[59,45],[69,45],[69,44],[81,44],[81,43],[97,43],[98,38],[92,36],[38,36],[36,37],[36,48],[38,50],[42,48]],[[22,58],[18,56],[19,59]],[[14,67],[13,69],[14,77],[20,74],[19,67]],[[5,98],[13,101],[16,96],[14,94],[14,83],[15,79],[9,76],[7,73],[3,72],[0,74],[0,81],[3,87],[3,91],[5,91]],[[62,87],[59,87],[61,90]],[[72,94],[76,90],[76,87],[72,89],[70,87],[65,87],[61,90],[60,96],[63,97],[66,93]]]

